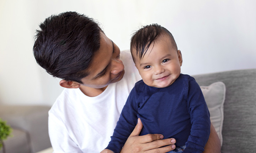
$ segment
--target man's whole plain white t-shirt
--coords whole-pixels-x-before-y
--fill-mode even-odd
[[[141,79],[130,51],[122,51],[124,77],[96,97],[80,89],[64,89],[49,111],[49,136],[54,153],[99,153],[113,134],[119,115]]]

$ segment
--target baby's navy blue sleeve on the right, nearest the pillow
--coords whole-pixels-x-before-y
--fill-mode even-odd
[[[203,93],[194,78],[188,83],[188,112],[191,116],[191,133],[183,153],[202,153],[210,135],[210,113]]]

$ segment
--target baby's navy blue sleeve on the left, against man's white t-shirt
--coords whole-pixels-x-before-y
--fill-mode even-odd
[[[126,142],[127,138],[135,128],[138,118],[138,106],[135,101],[135,87],[130,92],[126,104],[123,107],[120,118],[114,129],[111,141],[106,149],[110,149],[114,153],[119,153]]]

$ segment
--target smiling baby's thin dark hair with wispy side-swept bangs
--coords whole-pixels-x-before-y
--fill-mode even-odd
[[[133,34],[130,42],[130,51],[132,55],[133,53],[136,53],[136,55],[139,57],[139,60],[141,60],[144,57],[145,53],[148,51],[149,46],[152,43],[154,46],[155,42],[165,35],[170,37],[172,46],[174,47],[174,49],[178,50],[174,37],[169,32],[169,30],[155,23],[143,26],[141,29]],[[136,50],[136,52],[133,51],[134,49]],[[134,60],[135,59],[133,57],[133,61]]]

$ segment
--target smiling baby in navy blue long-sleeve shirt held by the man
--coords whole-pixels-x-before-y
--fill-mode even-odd
[[[119,153],[140,118],[140,135],[176,139],[169,153],[202,153],[210,114],[194,78],[181,74],[182,55],[172,34],[158,24],[144,26],[132,36],[130,51],[142,80],[130,92],[105,150]]]

